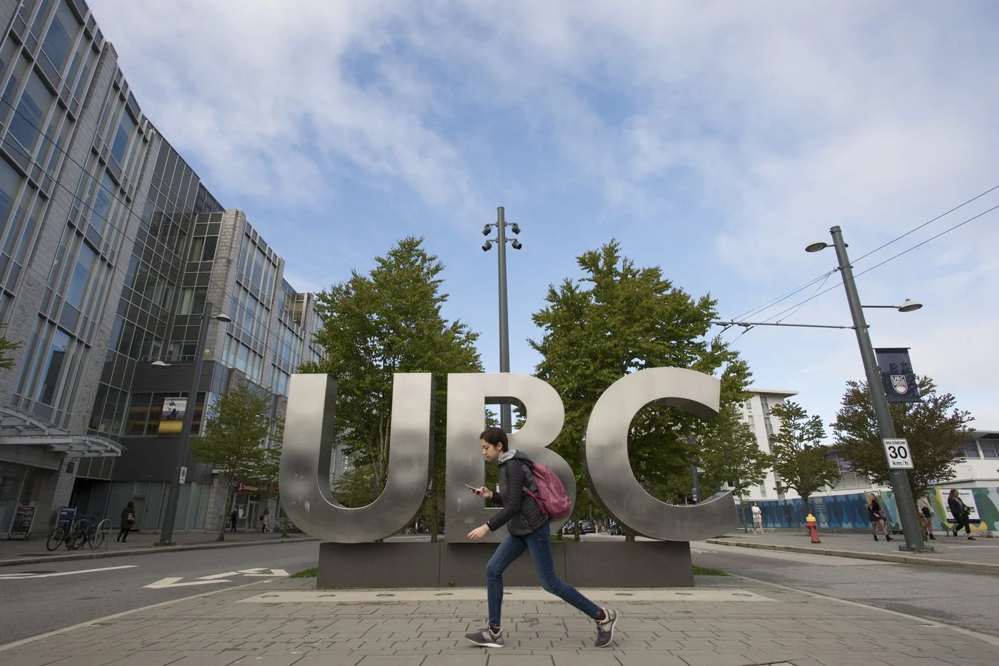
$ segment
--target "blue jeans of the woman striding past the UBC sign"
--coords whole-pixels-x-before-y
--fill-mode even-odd
[[[537,577],[541,579],[544,591],[560,597],[589,617],[596,619],[600,608],[568,583],[555,575],[555,563],[551,559],[551,542],[548,535],[550,527],[545,524],[530,534],[513,536],[507,534],[500,547],[493,553],[490,563],[486,565],[486,590],[489,596],[490,625],[500,626],[500,608],[502,607],[502,572],[524,550],[530,550],[530,559],[534,563]]]

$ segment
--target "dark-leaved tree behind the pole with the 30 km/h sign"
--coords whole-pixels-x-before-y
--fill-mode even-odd
[[[964,440],[973,418],[961,411],[950,393],[938,393],[928,376],[916,379],[921,402],[893,402],[895,435],[909,442],[913,469],[907,477],[913,497],[922,497],[935,481],[954,478],[954,466],[964,460]],[[847,381],[836,420],[832,423],[836,452],[850,468],[875,483],[888,480],[888,463],[878,433],[866,381]]]

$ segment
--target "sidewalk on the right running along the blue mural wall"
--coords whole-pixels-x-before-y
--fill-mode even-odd
[[[901,534],[893,534],[893,540],[886,542],[884,535],[879,535],[878,541],[875,541],[869,533],[819,532],[819,539],[822,542],[812,543],[804,530],[800,532],[797,530],[767,531],[765,534],[753,534],[752,532],[746,534],[739,530],[729,532],[716,539],[707,539],[706,542],[747,548],[834,555],[836,557],[856,557],[883,562],[953,566],[999,573],[999,539],[978,537],[974,541],[968,541],[963,532],[956,539],[949,533],[936,532],[935,536],[935,541],[926,542],[926,545],[933,546],[934,552],[926,553],[910,553],[899,550],[898,544],[905,544],[905,539]]]

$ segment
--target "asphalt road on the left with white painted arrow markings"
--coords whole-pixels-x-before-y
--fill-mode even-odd
[[[203,590],[267,580],[272,569],[295,573],[316,566],[318,557],[318,541],[291,541],[2,567],[0,644]],[[36,573],[15,577],[25,572]],[[230,575],[198,580],[224,573]],[[147,587],[157,583],[164,586]]]

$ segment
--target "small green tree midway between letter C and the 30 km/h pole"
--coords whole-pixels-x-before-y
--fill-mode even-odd
[[[839,464],[826,457],[829,447],[821,443],[825,439],[822,419],[809,416],[804,407],[791,400],[771,407],[770,414],[780,420],[780,428],[770,435],[776,458],[773,468],[811,512],[808,498],[839,480]]]

